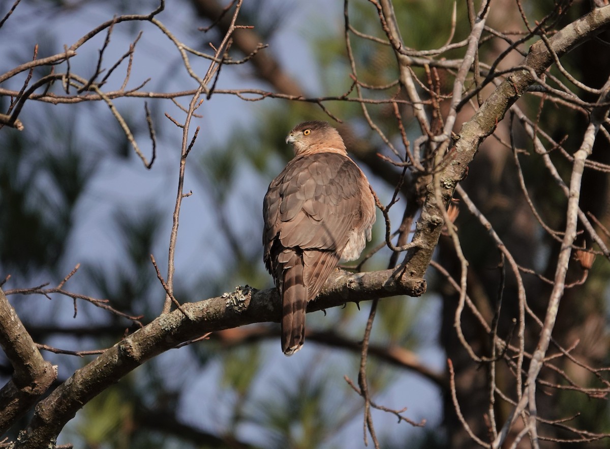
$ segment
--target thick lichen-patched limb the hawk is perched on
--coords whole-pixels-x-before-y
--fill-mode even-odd
[[[425,289],[425,280],[410,277],[401,267],[356,274],[337,270],[318,298],[309,303],[307,312],[397,294],[420,296]],[[279,322],[281,309],[274,288],[256,290],[247,286],[218,298],[182,304],[184,313],[174,310],[154,319],[77,370],[40,401],[29,429],[21,434],[15,447],[46,447],[83,404],[146,360],[207,332],[264,321]]]

